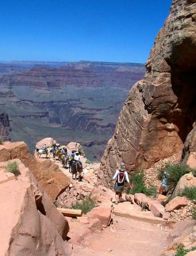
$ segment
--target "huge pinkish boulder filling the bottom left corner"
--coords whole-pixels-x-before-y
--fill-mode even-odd
[[[0,173],[7,174],[10,162],[18,164],[20,175],[0,183],[1,255],[71,255],[64,241],[69,231],[66,218],[19,159],[1,162]]]

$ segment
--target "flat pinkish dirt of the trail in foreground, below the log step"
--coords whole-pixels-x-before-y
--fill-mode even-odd
[[[73,256],[159,256],[168,232],[159,225],[114,216],[109,228],[89,234],[81,246],[73,243]]]

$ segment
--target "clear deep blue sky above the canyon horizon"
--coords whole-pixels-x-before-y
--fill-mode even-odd
[[[1,1],[0,60],[144,63],[171,2]]]

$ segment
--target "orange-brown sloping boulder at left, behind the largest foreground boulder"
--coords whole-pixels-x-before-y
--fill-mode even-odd
[[[0,145],[0,162],[18,158],[34,174],[53,201],[69,186],[70,179],[49,159],[36,159],[24,142],[5,142]]]

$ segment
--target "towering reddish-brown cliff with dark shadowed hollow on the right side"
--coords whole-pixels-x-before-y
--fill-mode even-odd
[[[196,3],[173,0],[155,39],[144,80],[125,102],[102,158],[100,179],[110,184],[118,162],[148,168],[180,151],[195,122]]]

